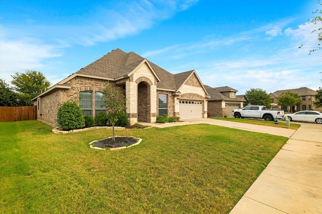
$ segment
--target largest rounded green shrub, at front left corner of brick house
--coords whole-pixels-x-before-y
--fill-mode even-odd
[[[75,101],[64,102],[57,112],[58,127],[64,130],[73,130],[85,126],[84,114]]]

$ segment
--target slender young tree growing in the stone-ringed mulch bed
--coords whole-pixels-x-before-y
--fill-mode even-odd
[[[115,140],[114,125],[118,120],[118,116],[126,110],[125,97],[119,91],[120,88],[112,91],[111,84],[106,83],[103,94],[103,103],[106,106],[108,121],[112,124],[113,140]]]

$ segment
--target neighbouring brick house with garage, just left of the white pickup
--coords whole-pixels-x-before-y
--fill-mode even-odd
[[[210,98],[208,98],[208,115],[210,117],[232,117],[233,109],[243,108],[244,98],[236,96],[237,90],[228,86],[212,88],[204,85]]]

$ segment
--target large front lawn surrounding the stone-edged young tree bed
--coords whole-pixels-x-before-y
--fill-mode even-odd
[[[110,129],[51,129],[0,123],[0,213],[228,213],[287,141],[199,124],[116,130],[143,140],[101,151]]]

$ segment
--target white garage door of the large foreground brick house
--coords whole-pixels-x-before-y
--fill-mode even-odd
[[[180,119],[202,118],[202,101],[180,100]]]

